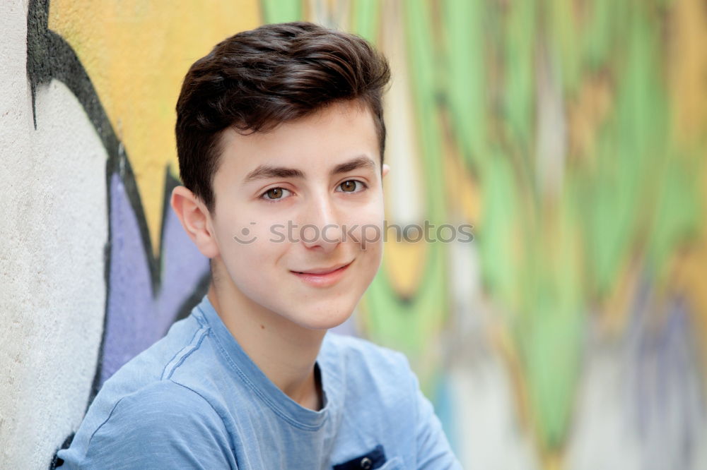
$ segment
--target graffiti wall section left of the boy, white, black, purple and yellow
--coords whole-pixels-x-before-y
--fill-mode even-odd
[[[1,8],[0,466],[47,468],[100,385],[205,293],[208,262],[165,197],[174,105],[192,62],[255,27],[259,5]]]

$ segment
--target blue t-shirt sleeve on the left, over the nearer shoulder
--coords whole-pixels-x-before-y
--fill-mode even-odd
[[[78,468],[236,469],[229,442],[206,399],[164,380],[115,404]]]

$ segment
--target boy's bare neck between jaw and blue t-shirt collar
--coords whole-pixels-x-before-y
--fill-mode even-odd
[[[235,286],[209,287],[209,301],[256,366],[288,397],[305,408],[322,408],[315,362],[326,330],[300,327],[247,299]]]

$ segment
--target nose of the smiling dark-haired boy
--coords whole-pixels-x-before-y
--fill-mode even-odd
[[[300,241],[311,250],[329,252],[341,243],[337,207],[327,194],[312,196],[300,227]]]

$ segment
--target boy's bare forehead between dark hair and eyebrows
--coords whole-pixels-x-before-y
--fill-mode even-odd
[[[267,132],[221,134],[219,176],[245,179],[262,165],[300,169],[304,174],[331,171],[341,162],[368,157],[380,171],[378,133],[373,114],[358,102],[332,104]]]

